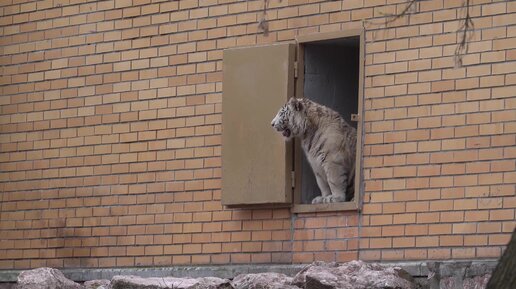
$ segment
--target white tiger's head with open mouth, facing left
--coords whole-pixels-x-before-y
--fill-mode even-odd
[[[272,119],[272,127],[280,132],[287,141],[301,136],[306,119],[304,108],[303,100],[290,98]]]

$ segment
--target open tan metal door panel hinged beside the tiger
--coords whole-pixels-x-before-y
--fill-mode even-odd
[[[290,204],[292,144],[271,127],[294,95],[294,44],[224,51],[222,204]]]

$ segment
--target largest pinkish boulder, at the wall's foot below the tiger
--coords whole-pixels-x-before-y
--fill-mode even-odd
[[[413,278],[399,267],[351,261],[344,264],[314,262],[292,283],[305,289],[415,289]]]

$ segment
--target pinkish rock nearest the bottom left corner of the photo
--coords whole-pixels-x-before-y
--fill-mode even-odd
[[[17,289],[84,289],[67,279],[63,273],[52,268],[38,268],[23,271],[18,275]]]

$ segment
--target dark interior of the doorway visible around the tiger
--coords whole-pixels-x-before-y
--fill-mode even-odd
[[[356,128],[351,114],[358,112],[360,38],[310,42],[303,47],[304,97],[334,109]],[[304,154],[301,169],[301,202],[310,204],[321,192]]]

